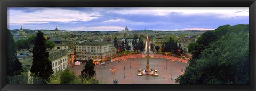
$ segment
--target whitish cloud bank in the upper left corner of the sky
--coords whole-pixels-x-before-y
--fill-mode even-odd
[[[23,8],[27,10],[28,8]],[[32,12],[35,8],[31,8]],[[90,21],[97,19],[101,15],[95,12],[81,12],[75,10],[65,10],[63,8],[38,8],[41,11],[32,13],[8,9],[9,24],[27,24],[27,23],[49,23],[49,22],[72,22],[72,21]]]

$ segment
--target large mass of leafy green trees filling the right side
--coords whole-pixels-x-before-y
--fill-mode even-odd
[[[225,35],[210,42],[205,49],[201,50],[199,58],[193,59],[195,62],[186,67],[185,73],[180,75],[176,81],[180,84],[248,84],[248,25],[235,25],[234,27],[239,30],[228,31]],[[230,28],[233,29],[233,26]],[[223,31],[226,30],[230,29]],[[193,45],[192,48],[196,50],[194,48],[196,43]]]

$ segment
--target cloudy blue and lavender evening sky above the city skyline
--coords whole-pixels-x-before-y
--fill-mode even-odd
[[[214,30],[249,24],[249,8],[9,7],[8,28],[70,31]]]

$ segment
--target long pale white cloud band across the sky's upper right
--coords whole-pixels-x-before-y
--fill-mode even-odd
[[[101,8],[104,9],[104,8]],[[244,11],[245,8],[197,8],[197,7],[141,7],[141,8],[117,8],[108,10],[111,13],[118,13],[123,15],[155,15],[155,16],[168,16],[168,15],[199,15],[199,16],[216,16],[219,18],[229,18],[236,16],[249,16],[249,13]],[[243,12],[237,12],[243,11]],[[237,13],[234,13],[237,12]]]

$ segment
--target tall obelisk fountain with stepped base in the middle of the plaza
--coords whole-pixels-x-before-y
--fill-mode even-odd
[[[149,70],[149,38],[148,38],[148,35],[147,35],[147,40],[146,40],[146,44],[147,46],[147,65],[146,65],[146,70],[143,70],[143,69],[139,69],[138,71],[140,72],[139,74],[137,74],[138,76],[141,76],[141,75],[152,75],[152,76],[158,76],[158,74],[156,74],[157,70],[154,69],[154,70]],[[153,54],[153,57],[154,57],[154,54]]]

